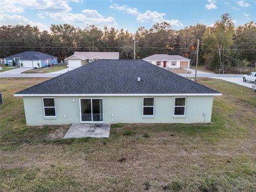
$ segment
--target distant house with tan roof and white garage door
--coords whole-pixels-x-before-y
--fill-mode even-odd
[[[75,52],[66,59],[68,67],[81,67],[98,59],[119,59],[119,52]]]

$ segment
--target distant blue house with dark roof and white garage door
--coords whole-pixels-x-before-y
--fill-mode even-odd
[[[58,63],[57,57],[38,51],[25,51],[4,58],[5,64],[12,65],[13,61],[16,66],[22,67],[45,67]]]

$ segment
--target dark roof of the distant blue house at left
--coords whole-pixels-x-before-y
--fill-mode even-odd
[[[53,58],[57,58],[57,57],[49,55],[49,54],[41,53],[41,52],[38,52],[38,51],[25,51],[25,52],[22,52],[22,53],[18,53],[18,54],[14,54],[14,55],[11,55],[9,57],[6,57],[6,59],[7,58],[39,59],[39,60],[42,60],[42,59],[53,59]]]

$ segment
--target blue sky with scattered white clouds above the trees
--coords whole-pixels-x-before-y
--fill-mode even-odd
[[[228,12],[235,26],[256,21],[254,1],[86,1],[86,0],[1,0],[0,25],[32,25],[49,30],[51,24],[69,23],[84,28],[95,25],[149,29],[156,22],[169,22],[173,29],[204,23],[211,26]]]

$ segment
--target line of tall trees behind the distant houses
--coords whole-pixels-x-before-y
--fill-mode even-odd
[[[195,61],[196,40],[199,39],[199,65],[226,73],[234,68],[255,67],[256,23],[234,26],[228,13],[211,27],[203,24],[173,30],[167,22],[156,23],[150,29],[139,27],[135,34],[128,30],[94,25],[81,29],[68,24],[51,25],[50,31],[32,26],[1,26],[0,57],[23,51],[40,51],[60,60],[74,51],[119,52],[121,59],[133,59],[152,54],[178,54]]]

